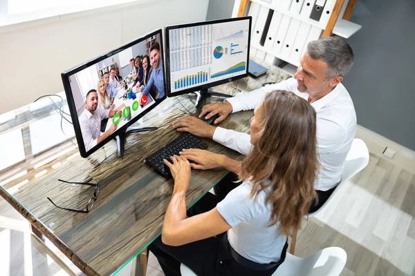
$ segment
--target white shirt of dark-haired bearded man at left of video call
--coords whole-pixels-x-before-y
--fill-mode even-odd
[[[82,112],[80,126],[86,151],[97,145],[98,137],[101,135],[101,120],[108,117],[109,109],[104,110],[99,105],[93,114],[86,109]]]

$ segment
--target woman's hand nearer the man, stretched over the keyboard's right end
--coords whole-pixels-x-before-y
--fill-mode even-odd
[[[208,150],[199,150],[196,148],[184,149],[179,152],[182,157],[186,157],[188,160],[195,161],[198,164],[190,164],[192,168],[198,170],[208,170],[210,168],[222,167],[223,155],[210,152]]]

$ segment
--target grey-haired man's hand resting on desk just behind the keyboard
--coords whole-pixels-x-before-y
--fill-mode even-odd
[[[207,137],[212,139],[216,126],[210,126],[201,119],[193,116],[184,117],[173,122],[173,128],[180,132],[189,132],[198,137]]]

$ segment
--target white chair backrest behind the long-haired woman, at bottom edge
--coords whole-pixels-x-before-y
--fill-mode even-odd
[[[340,247],[329,247],[304,259],[287,253],[286,260],[273,276],[338,276],[347,261],[347,253]]]

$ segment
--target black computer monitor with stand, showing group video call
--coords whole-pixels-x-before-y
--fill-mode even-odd
[[[129,126],[166,98],[162,30],[62,73],[80,155],[87,157],[116,138],[118,155]]]

